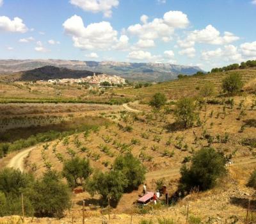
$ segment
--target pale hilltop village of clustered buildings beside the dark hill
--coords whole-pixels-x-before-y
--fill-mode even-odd
[[[99,74],[93,76],[82,77],[79,79],[49,79],[48,83],[52,84],[66,84],[66,83],[88,83],[93,85],[100,85],[101,83],[110,84],[125,84],[125,79],[120,76],[109,76],[107,74]]]

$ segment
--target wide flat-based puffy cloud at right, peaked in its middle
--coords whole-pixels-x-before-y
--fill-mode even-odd
[[[225,32],[224,36],[220,35],[220,31],[214,28],[212,25],[208,25],[205,29],[192,31],[188,37],[188,42],[198,42],[213,45],[225,45],[230,44],[236,40],[239,40],[238,36],[233,33]]]

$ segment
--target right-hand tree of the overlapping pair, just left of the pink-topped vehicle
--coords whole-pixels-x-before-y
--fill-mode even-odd
[[[125,178],[128,180],[125,191],[129,192],[138,189],[138,186],[145,180],[145,167],[141,164],[141,161],[131,153],[116,157],[113,169],[124,173]]]

